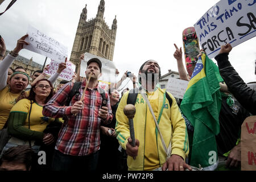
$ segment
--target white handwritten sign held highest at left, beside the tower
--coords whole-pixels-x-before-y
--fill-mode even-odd
[[[58,63],[65,61],[65,57],[68,55],[67,47],[31,26],[28,27],[27,34],[28,37],[25,41],[30,45],[24,45],[24,48],[49,57]]]

